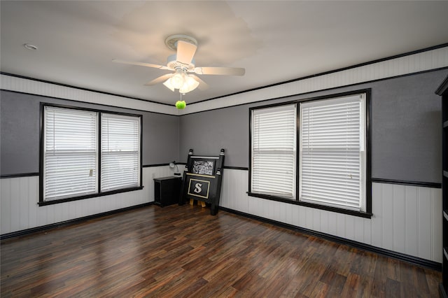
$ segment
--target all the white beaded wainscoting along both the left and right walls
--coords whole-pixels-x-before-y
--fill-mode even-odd
[[[154,201],[153,178],[172,176],[169,166],[143,169],[144,189],[110,196],[37,205],[38,176],[3,178],[1,234],[50,225]],[[249,197],[248,171],[224,169],[220,205],[288,225],[442,262],[442,191],[372,183],[371,219]]]

